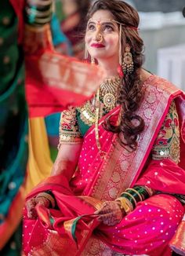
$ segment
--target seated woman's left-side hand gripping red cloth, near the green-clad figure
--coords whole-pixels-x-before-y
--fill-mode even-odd
[[[41,204],[45,208],[49,208],[50,202],[49,202],[49,199],[46,199],[43,196],[39,196],[39,197],[37,196],[37,197],[27,200],[26,208],[27,208],[27,217],[28,218],[37,218],[38,217],[37,211],[35,209],[37,204]]]

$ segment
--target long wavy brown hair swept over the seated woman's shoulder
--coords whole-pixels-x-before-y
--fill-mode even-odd
[[[138,27],[140,17],[136,9],[123,1],[98,0],[89,9],[87,19],[91,18],[96,11],[108,10],[114,16],[114,20],[122,23],[122,56],[125,53],[125,46],[130,46],[134,70],[131,74],[125,74],[122,79],[122,86],[118,96],[118,104],[121,105],[121,120],[118,126],[114,126],[109,116],[103,128],[113,133],[118,133],[118,139],[123,147],[136,150],[137,138],[144,129],[144,120],[136,114],[142,100],[142,84],[140,82],[139,70],[143,64],[143,40],[138,31],[132,27]]]

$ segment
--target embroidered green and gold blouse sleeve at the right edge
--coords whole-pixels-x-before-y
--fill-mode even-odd
[[[152,149],[152,159],[180,161],[180,128],[176,104],[172,101]]]

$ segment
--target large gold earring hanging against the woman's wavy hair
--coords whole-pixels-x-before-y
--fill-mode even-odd
[[[123,55],[122,69],[125,74],[132,74],[133,71],[133,59],[130,47],[126,46],[125,53]]]

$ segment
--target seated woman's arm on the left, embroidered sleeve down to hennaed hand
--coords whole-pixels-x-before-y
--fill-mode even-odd
[[[82,148],[82,135],[78,130],[75,108],[61,113],[59,152],[53,165],[51,175],[63,174],[70,181],[78,164]],[[28,218],[37,218],[35,206],[42,204],[46,208],[56,207],[56,200],[51,191],[39,193],[27,201]]]

